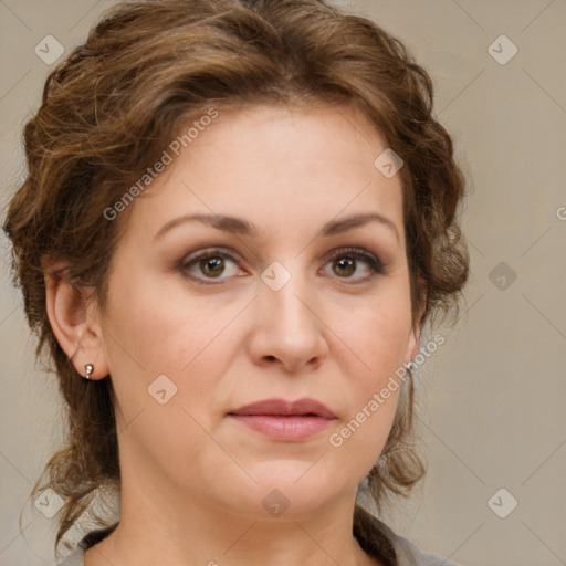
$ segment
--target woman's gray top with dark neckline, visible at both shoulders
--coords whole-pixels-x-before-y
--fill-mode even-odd
[[[84,566],[85,551],[102,541],[109,532],[111,530],[104,530],[86,535],[55,566]],[[440,556],[422,553],[410,541],[394,533],[359,505],[356,505],[354,514],[354,535],[361,548],[381,560],[385,566],[458,566]]]

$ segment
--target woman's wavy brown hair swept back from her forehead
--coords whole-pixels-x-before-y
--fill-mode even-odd
[[[45,274],[92,287],[105,306],[108,266],[127,220],[105,210],[159,159],[187,124],[256,105],[350,105],[403,160],[403,222],[413,317],[458,311],[469,256],[458,223],[464,177],[432,116],[433,85],[403,44],[323,0],[163,0],[122,3],[49,75],[24,127],[27,177],[8,208],[13,281],[55,373],[67,434],[43,474],[64,499],[55,548],[96,493],[119,485],[112,379],[81,379],[46,313]],[[377,156],[376,156],[377,157]],[[42,357],[43,354],[46,356]],[[413,385],[366,478],[380,509],[424,474],[413,441]],[[33,493],[40,490],[40,481]],[[102,516],[94,514],[101,525]]]

